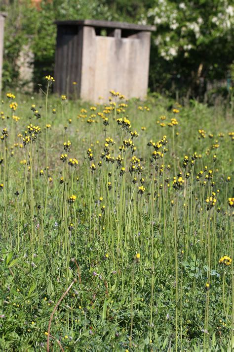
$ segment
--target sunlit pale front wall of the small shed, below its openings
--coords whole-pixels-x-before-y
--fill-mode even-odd
[[[121,38],[98,36],[94,27],[83,27],[80,98],[86,101],[104,101],[115,90],[127,98],[143,99],[147,94],[150,32],[138,32]]]

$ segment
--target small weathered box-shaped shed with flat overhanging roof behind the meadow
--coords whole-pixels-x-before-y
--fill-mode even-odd
[[[77,20],[56,21],[55,92],[106,101],[115,90],[127,98],[147,94],[154,26]],[[77,85],[74,84],[77,82]]]

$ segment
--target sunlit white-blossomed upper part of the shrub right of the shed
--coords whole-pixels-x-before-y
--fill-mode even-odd
[[[208,44],[217,37],[230,35],[234,28],[234,6],[227,0],[189,1],[157,0],[147,17],[156,26],[155,44],[165,60],[173,59],[179,50],[188,56],[190,50]]]

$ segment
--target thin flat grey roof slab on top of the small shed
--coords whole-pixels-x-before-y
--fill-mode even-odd
[[[116,22],[116,21],[99,21],[99,20],[66,20],[66,21],[55,21],[57,25],[64,26],[90,26],[90,27],[105,27],[105,28],[119,28],[129,29],[136,31],[155,31],[155,26],[145,26],[142,24],[134,24],[127,22]]]

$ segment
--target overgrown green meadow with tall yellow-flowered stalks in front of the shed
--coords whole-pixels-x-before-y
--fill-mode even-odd
[[[0,350],[231,352],[231,109],[51,84],[2,95]]]

